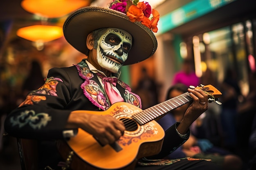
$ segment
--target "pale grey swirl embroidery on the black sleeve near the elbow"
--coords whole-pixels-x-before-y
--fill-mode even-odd
[[[40,129],[42,126],[46,126],[48,121],[51,120],[52,117],[47,113],[36,114],[34,110],[25,110],[24,112],[21,112],[16,119],[11,117],[12,126],[18,125],[19,128],[28,124],[33,129]]]

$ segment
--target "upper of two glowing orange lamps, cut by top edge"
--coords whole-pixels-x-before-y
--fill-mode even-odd
[[[59,18],[81,7],[89,6],[92,0],[22,0],[21,6],[30,13],[46,18]]]

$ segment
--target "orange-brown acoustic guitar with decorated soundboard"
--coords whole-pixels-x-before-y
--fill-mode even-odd
[[[212,85],[196,88],[208,94],[209,102],[216,102],[222,95]],[[124,135],[114,144],[103,146],[79,128],[75,137],[57,142],[58,150],[67,159],[67,168],[72,170],[132,170],[138,159],[161,151],[164,130],[154,119],[192,100],[186,92],[145,110],[126,102],[117,102],[105,111],[86,111],[123,121],[126,127]]]

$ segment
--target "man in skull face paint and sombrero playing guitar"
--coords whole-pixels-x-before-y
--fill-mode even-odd
[[[150,14],[153,15],[152,18]],[[67,155],[65,158],[61,157],[66,148],[61,147],[63,143],[57,142],[57,150],[55,144],[55,141],[73,139],[79,135],[79,128],[91,135],[93,141],[97,141],[102,147],[111,146],[117,152],[122,148],[112,144],[116,144],[127,132],[124,122],[109,115],[93,114],[95,112],[91,111],[108,111],[115,102],[126,102],[130,104],[128,106],[142,108],[140,97],[132,93],[128,84],[118,79],[119,68],[146,60],[155,53],[157,41],[153,31],[157,31],[158,20],[159,13],[151,9],[147,2],[129,0],[113,0],[110,9],[84,7],[67,18],[63,25],[67,42],[88,58],[71,67],[50,69],[45,84],[29,92],[25,101],[7,116],[4,124],[9,135],[36,139],[39,155],[37,169],[87,169],[88,167],[77,162],[71,161],[70,164]],[[129,170],[219,169],[211,161],[202,159],[161,160],[188,139],[189,126],[208,107],[208,96],[202,90],[188,91],[194,102],[187,109],[184,119],[165,132],[157,129],[165,134],[163,143],[156,146],[161,150],[159,154],[135,159],[129,164]],[[124,110],[129,112],[132,109]],[[147,130],[151,132],[150,128],[145,128],[145,132]],[[152,133],[148,133],[150,134]],[[136,140],[131,139],[130,142]],[[92,152],[93,150],[86,154],[90,159],[93,157],[90,156]],[[98,156],[100,155],[93,158],[97,160]],[[70,157],[74,160],[72,155]]]

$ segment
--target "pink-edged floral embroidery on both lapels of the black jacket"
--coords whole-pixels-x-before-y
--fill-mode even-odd
[[[83,84],[81,84],[81,88],[83,89],[85,97],[87,97],[90,102],[92,102],[92,104],[94,104],[98,108],[101,108],[102,110],[107,110],[110,107],[108,98],[106,97],[106,94],[104,93],[101,85],[92,79],[94,75],[86,64],[85,59],[74,66],[76,66],[79,76],[85,80]],[[126,102],[141,108],[140,97],[135,93],[131,92],[131,88],[128,86],[128,84],[120,80],[118,80],[117,83],[125,89],[124,99],[126,100]]]

